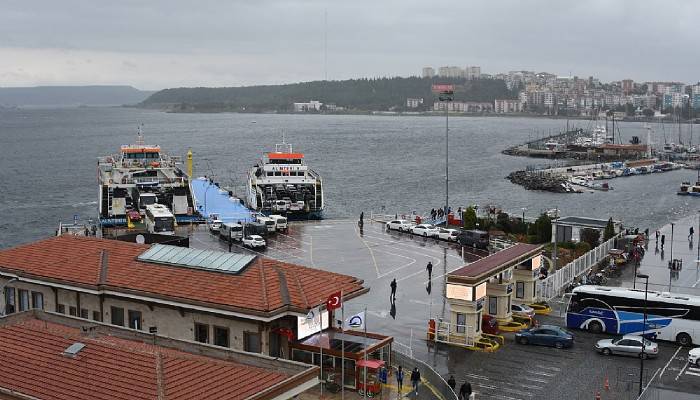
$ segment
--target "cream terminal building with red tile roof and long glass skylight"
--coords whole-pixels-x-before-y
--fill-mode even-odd
[[[331,293],[368,291],[351,276],[265,257],[70,235],[0,251],[2,285],[7,314],[38,308],[273,357],[290,354],[308,311]]]

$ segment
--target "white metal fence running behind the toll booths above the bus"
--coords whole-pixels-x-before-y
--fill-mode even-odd
[[[574,279],[583,274],[587,274],[591,268],[603,261],[608,256],[608,251],[615,248],[615,243],[618,237],[613,237],[604,242],[600,246],[583,254],[581,257],[566,264],[561,269],[549,275],[546,279],[537,282],[537,298],[539,300],[549,301],[564,291]]]

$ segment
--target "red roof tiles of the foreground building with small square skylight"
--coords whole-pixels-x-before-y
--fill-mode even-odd
[[[63,355],[76,342],[85,347]],[[39,399],[245,399],[290,378],[137,340],[81,335],[80,328],[36,318],[0,326],[0,387]]]

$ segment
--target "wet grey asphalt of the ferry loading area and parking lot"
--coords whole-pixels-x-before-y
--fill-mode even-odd
[[[227,251],[228,244],[200,227],[191,236],[191,246]],[[639,359],[596,353],[594,344],[606,335],[574,331],[571,349],[523,346],[505,334],[506,344],[494,353],[473,352],[459,347],[428,343],[427,321],[447,315],[443,301],[444,275],[467,262],[487,255],[481,250],[462,249],[454,243],[387,232],[383,224],[356,221],[292,223],[286,233],[268,236],[261,251],[238,243],[232,251],[264,255],[364,279],[370,292],[346,304],[345,313],[367,309],[369,331],[392,335],[395,348],[408,346],[413,355],[442,374],[455,376],[458,386],[471,382],[477,399],[634,399],[638,393]],[[433,264],[428,278],[426,264]],[[395,305],[389,301],[389,283],[397,281]],[[538,316],[541,323],[563,325],[558,309]],[[658,358],[645,361],[645,382],[657,373],[665,387],[700,392],[700,371],[685,364],[687,349],[660,343]],[[604,388],[605,378],[609,390]],[[663,397],[661,397],[663,398]]]

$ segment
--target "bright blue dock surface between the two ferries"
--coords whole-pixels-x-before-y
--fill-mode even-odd
[[[212,214],[218,214],[223,222],[253,221],[253,211],[247,208],[243,201],[229,195],[229,192],[219,188],[207,178],[193,179],[192,197],[197,212],[205,219]]]

